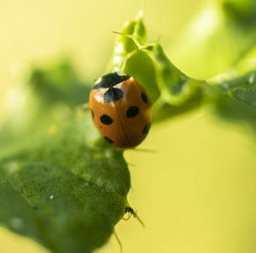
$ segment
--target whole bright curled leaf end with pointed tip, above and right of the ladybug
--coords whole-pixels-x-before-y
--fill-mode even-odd
[[[136,78],[148,92],[152,103],[157,101],[156,111],[165,103],[181,106],[195,94],[198,95],[201,81],[180,72],[167,58],[160,43],[145,43],[145,33],[141,13],[136,20],[125,23],[117,37],[109,69]]]

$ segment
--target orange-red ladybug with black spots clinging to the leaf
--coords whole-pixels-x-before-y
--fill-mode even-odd
[[[136,147],[148,135],[152,106],[143,86],[121,72],[99,78],[90,91],[91,118],[116,147]]]

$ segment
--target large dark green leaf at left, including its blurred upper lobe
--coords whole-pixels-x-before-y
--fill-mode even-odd
[[[91,252],[125,213],[123,150],[102,139],[88,109],[73,112],[90,89],[67,61],[28,80],[26,103],[0,131],[0,223],[54,253]]]

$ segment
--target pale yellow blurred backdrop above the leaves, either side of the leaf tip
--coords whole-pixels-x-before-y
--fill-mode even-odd
[[[29,66],[66,55],[90,80],[102,75],[115,35],[143,6],[143,1],[1,1],[0,120],[11,110],[3,94]],[[145,1],[148,40],[172,42],[201,5],[200,1]],[[9,97],[9,100],[12,100]],[[15,101],[10,101],[11,103]],[[1,122],[1,121],[0,121]]]

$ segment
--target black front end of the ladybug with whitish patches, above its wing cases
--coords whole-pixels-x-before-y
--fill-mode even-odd
[[[119,72],[109,73],[107,75],[102,76],[102,78],[97,81],[96,85],[93,89],[101,89],[101,88],[110,88],[116,84],[122,83],[123,81],[129,79],[128,75]]]

